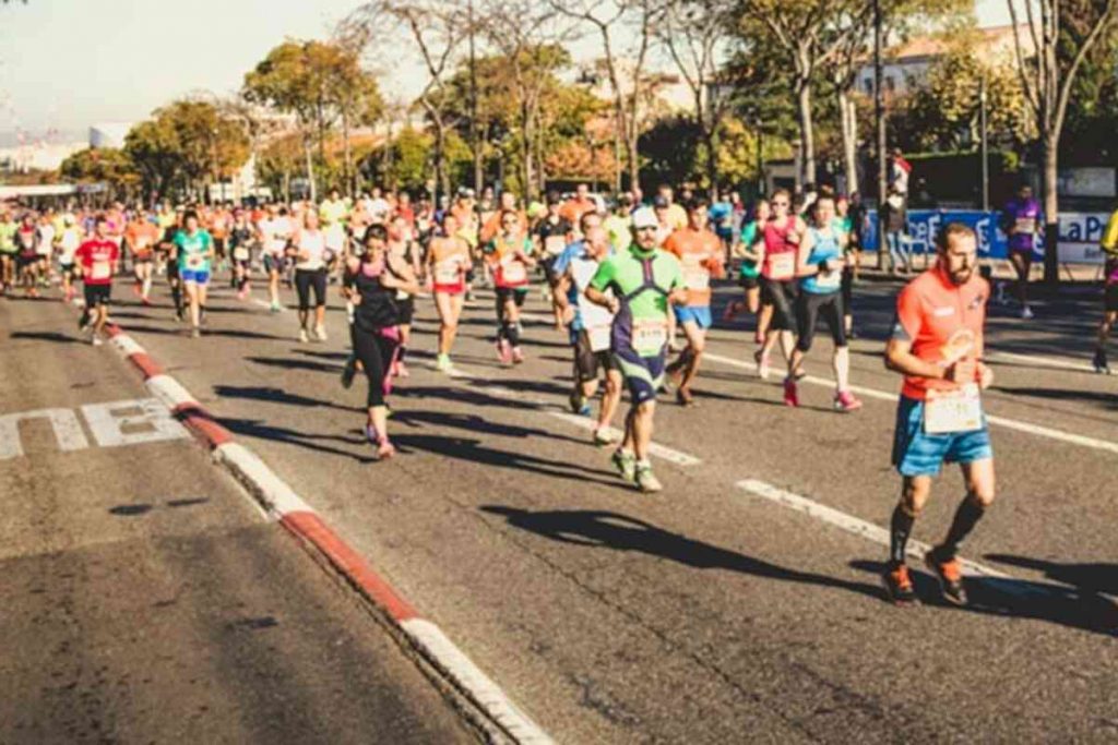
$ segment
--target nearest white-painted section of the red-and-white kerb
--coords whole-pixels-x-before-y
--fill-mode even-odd
[[[524,745],[548,745],[555,741],[527,714],[512,703],[443,630],[430,621],[414,618],[400,625],[411,640],[426,651],[427,659],[442,668],[454,682],[500,724],[513,742]]]

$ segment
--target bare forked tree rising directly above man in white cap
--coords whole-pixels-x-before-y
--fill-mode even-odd
[[[549,0],[551,7],[597,31],[603,64],[614,97],[618,145],[627,155],[629,188],[641,189],[641,105],[650,84],[645,74],[656,23],[667,0]],[[618,48],[622,29],[629,26],[633,41]],[[626,69],[627,68],[627,69]],[[618,174],[617,190],[620,190]]]

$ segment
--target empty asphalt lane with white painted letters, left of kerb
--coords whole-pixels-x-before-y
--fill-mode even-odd
[[[76,317],[0,300],[0,743],[476,742]]]

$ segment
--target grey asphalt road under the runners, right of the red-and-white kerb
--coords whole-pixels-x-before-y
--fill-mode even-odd
[[[538,293],[528,362],[496,364],[483,293],[456,378],[430,370],[418,303],[392,399],[402,452],[383,464],[361,436],[362,383],[338,383],[337,297],[325,344],[225,289],[200,340],[165,294],[114,317],[560,742],[1112,742],[1118,379],[1086,369],[1098,303],[1042,299],[1027,324],[995,308],[999,497],[964,547],[987,576],[959,610],[918,573],[925,603],[904,610],[882,600],[874,532],[899,486],[899,380],[881,363],[898,287],[859,288],[854,414],[826,384],[785,408],[779,376],[751,371],[751,325],[720,325],[700,405],[657,413],[655,497],[565,412],[570,353]],[[828,360],[821,337],[807,369],[828,378]],[[960,496],[945,472],[916,538],[938,539]]]

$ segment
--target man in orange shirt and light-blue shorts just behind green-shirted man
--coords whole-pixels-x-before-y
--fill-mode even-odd
[[[722,241],[708,227],[707,209],[703,199],[689,202],[688,227],[673,232],[664,243],[664,249],[680,260],[683,284],[688,288],[686,300],[673,308],[688,344],[666,369],[666,381],[675,388],[675,400],[681,407],[694,405],[691,383],[699,373],[702,353],[707,348],[707,329],[713,325],[710,280],[726,275]]]

